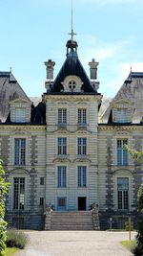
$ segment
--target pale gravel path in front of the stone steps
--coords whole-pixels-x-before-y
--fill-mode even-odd
[[[27,231],[29,244],[16,256],[132,256],[119,242],[129,232]],[[135,233],[132,233],[132,239]]]

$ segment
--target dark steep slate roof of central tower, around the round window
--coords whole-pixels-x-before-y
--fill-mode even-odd
[[[69,45],[68,45],[69,47]],[[67,58],[59,71],[55,81],[51,85],[51,88],[47,91],[47,94],[71,94],[63,92],[63,85],[61,84],[62,81],[65,80],[68,76],[77,76],[84,82],[82,85],[82,92],[86,94],[98,94],[95,88],[92,86],[92,83],[87,76],[78,56],[77,52],[71,48],[69,54],[67,54]],[[72,94],[80,94],[76,92],[72,92]]]

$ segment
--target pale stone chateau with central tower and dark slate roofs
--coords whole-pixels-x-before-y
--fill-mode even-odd
[[[98,92],[98,62],[90,78],[67,42],[67,56],[53,80],[54,61],[45,62],[46,92],[38,105],[11,72],[0,72],[0,158],[10,191],[6,217],[10,226],[45,228],[46,209],[90,211],[96,205],[100,228],[124,227],[136,220],[136,194],[142,165],[124,145],[142,150],[143,73],[131,72],[116,96]]]

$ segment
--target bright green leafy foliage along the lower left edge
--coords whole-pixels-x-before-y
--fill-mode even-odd
[[[0,160],[0,256],[5,255],[6,249],[6,229],[7,221],[5,218],[5,197],[8,193],[9,183],[5,180],[5,171],[3,169],[2,160]]]

